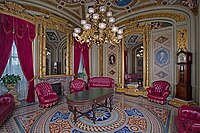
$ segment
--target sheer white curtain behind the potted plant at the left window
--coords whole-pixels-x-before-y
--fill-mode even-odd
[[[16,48],[14,42],[13,42],[13,45],[12,45],[12,51],[11,51],[10,58],[8,60],[7,66],[4,70],[2,77],[6,74],[18,74],[18,75],[20,75],[21,80],[18,83],[17,95],[18,95],[19,100],[26,99],[27,94],[28,94],[28,82],[27,82],[27,80],[24,77],[24,74],[22,72],[20,62],[19,62],[19,59],[18,59],[17,48]]]

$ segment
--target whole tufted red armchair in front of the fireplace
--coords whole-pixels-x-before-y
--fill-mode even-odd
[[[58,102],[58,95],[49,83],[41,82],[35,86],[41,107],[50,107]]]

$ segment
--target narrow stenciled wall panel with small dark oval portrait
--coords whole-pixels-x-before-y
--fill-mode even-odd
[[[118,80],[118,46],[109,44],[107,47],[107,76]]]

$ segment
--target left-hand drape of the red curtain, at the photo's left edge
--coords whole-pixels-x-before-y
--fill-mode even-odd
[[[0,14],[0,77],[2,76],[13,43],[13,17]]]

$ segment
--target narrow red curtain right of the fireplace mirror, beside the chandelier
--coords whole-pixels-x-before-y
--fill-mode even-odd
[[[75,74],[75,77],[78,75],[78,68],[79,68],[80,59],[81,59],[81,51],[82,51],[81,43],[78,42],[74,38],[74,74]]]

